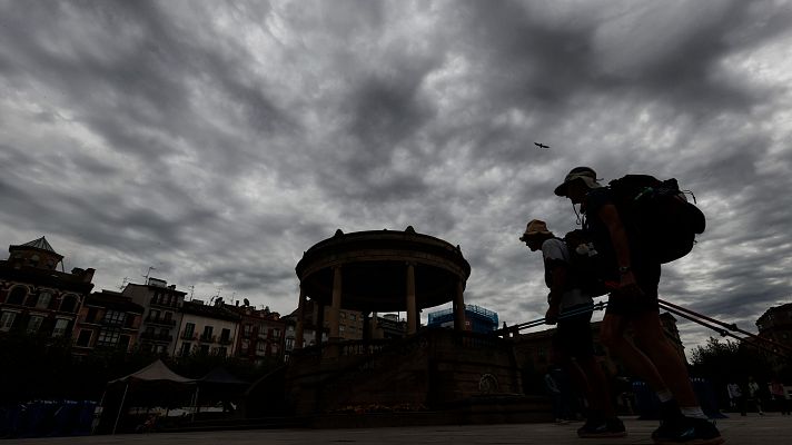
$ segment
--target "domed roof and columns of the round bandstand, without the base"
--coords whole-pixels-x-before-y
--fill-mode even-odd
[[[464,326],[465,283],[471,265],[459,246],[418,234],[412,226],[404,231],[369,230],[344,234],[317,243],[296,267],[300,281],[295,347],[303,345],[306,298],[318,304],[318,316],[329,306],[329,342],[339,339],[339,310],[364,314],[367,335],[368,314],[406,312],[407,334],[419,326],[420,310],[453,301],[454,326]],[[376,317],[374,317],[376,322]],[[317,320],[321,326],[324,320]],[[320,336],[319,336],[320,338]]]

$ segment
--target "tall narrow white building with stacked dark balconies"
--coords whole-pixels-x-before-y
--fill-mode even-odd
[[[121,294],[143,307],[139,344],[142,350],[172,354],[185,295],[176,285],[149,278],[145,285],[128,284]]]

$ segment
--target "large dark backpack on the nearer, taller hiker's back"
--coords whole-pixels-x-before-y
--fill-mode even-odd
[[[690,254],[695,236],[704,233],[706,218],[675,178],[626,175],[608,182],[618,215],[635,230],[642,248],[660,263]]]

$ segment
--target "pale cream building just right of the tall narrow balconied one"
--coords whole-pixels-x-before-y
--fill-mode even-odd
[[[241,316],[222,301],[210,306],[202,300],[184,301],[178,336],[171,352],[177,357],[190,354],[232,356]]]

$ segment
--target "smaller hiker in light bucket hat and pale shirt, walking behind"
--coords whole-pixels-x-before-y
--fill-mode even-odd
[[[591,318],[592,296],[577,285],[564,240],[547,230],[538,219],[528,222],[519,240],[544,258],[545,285],[550,288],[545,323],[557,324],[553,336],[553,363],[562,365],[586,395],[590,413],[577,429],[580,437],[623,437],[624,424],[616,416],[607,389],[607,379],[594,356]],[[573,358],[575,360],[573,362]]]

